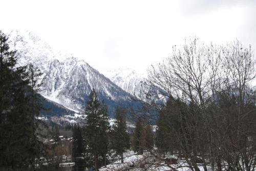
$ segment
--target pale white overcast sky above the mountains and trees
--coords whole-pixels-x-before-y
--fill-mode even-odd
[[[2,1],[0,30],[29,30],[104,74],[144,73],[185,38],[256,49],[256,1]]]

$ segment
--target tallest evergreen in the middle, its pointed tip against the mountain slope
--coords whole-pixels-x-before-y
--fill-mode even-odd
[[[86,139],[89,151],[94,156],[95,170],[99,168],[99,155],[105,155],[105,150],[108,149],[106,143],[109,124],[107,110],[106,106],[99,102],[96,91],[93,89],[86,104],[85,114],[87,115]]]

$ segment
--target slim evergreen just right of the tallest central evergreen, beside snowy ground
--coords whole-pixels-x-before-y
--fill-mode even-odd
[[[121,156],[123,163],[123,152],[130,148],[130,137],[127,133],[126,110],[123,106],[117,106],[115,113],[115,125],[113,126],[113,149]]]

